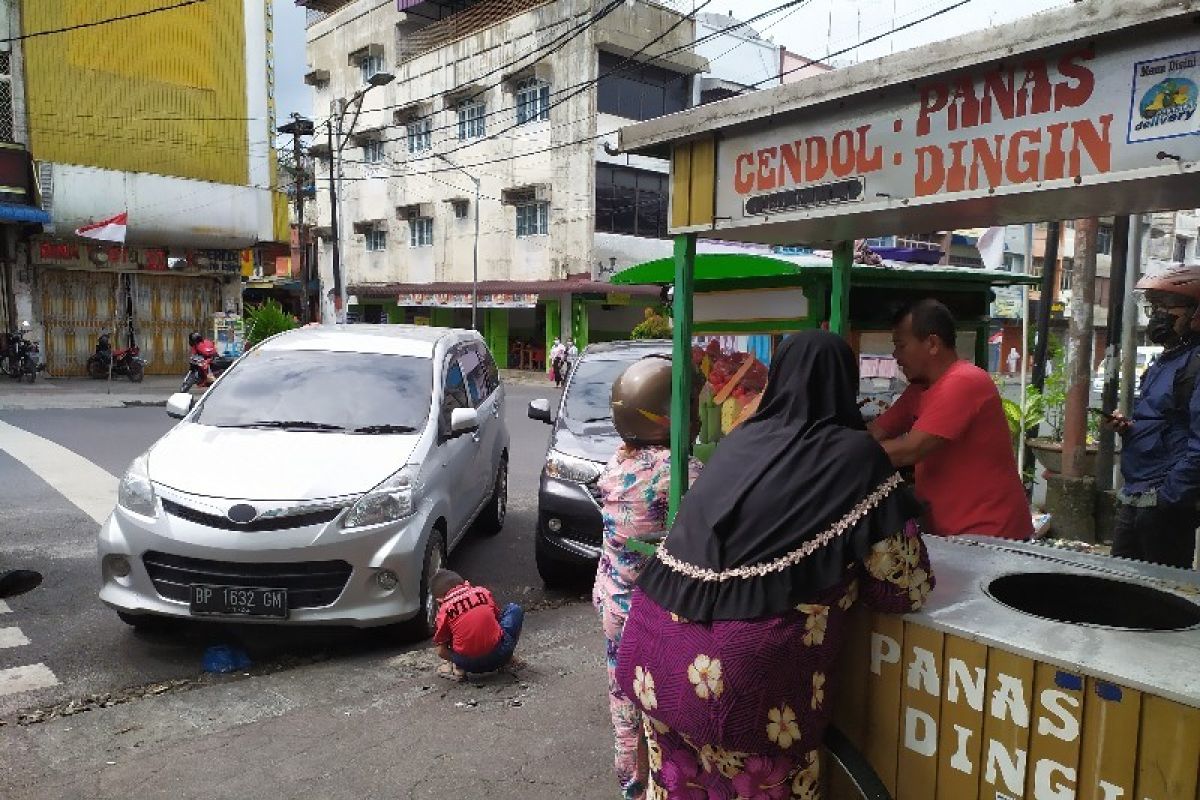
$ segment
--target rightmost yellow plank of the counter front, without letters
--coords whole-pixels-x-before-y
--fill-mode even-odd
[[[1194,800],[1200,763],[1200,709],[1151,694],[1141,700],[1136,798]]]

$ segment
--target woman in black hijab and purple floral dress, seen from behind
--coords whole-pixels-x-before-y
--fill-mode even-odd
[[[648,717],[647,798],[815,798],[848,609],[929,595],[920,509],[857,390],[840,337],[787,338],[642,573],[617,676]]]

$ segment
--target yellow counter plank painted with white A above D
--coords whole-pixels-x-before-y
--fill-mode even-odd
[[[896,800],[930,800],[937,786],[942,638],[941,631],[905,624]]]

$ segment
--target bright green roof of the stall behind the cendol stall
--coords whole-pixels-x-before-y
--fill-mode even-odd
[[[833,260],[821,255],[755,255],[751,253],[701,253],[696,255],[696,282],[734,282],[758,278],[780,279],[796,278],[799,282],[805,276],[828,276],[833,271]],[[856,264],[853,267],[854,285],[878,285],[893,278],[906,281],[944,281],[958,284],[990,285],[1034,285],[1042,278],[1019,272],[998,272],[996,270],[978,270],[965,266],[925,266],[884,261],[882,266]],[[660,258],[644,261],[612,276],[616,284],[658,284],[674,283],[674,260]]]

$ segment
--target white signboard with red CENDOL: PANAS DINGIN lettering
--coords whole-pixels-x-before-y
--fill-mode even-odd
[[[1122,181],[1162,194],[1194,179],[1183,172],[1200,160],[1198,59],[1190,30],[1103,37],[859,94],[790,124],[731,128],[716,146],[713,228],[755,227],[770,241],[779,227],[791,241],[821,241],[924,229],[904,227],[917,209],[930,222],[937,207],[959,215],[930,229],[1039,219],[1044,209],[1016,198],[1045,204],[1046,190],[1088,184],[1099,191],[1074,197],[1087,204],[1079,211],[1162,204],[1128,196]],[[1157,187],[1147,169],[1163,173]],[[962,203],[974,198],[988,203]]]

